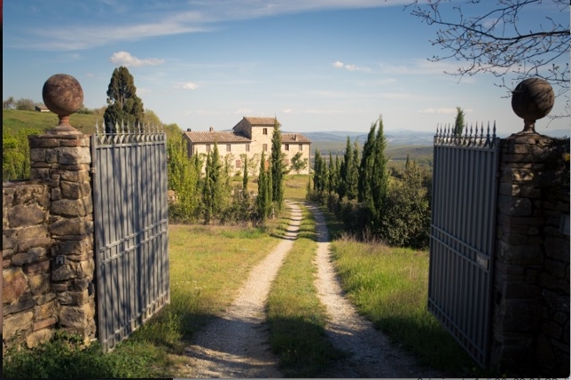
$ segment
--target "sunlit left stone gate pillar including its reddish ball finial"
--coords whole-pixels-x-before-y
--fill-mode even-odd
[[[51,287],[58,326],[87,343],[96,332],[90,137],[68,122],[82,106],[82,88],[73,76],[53,75],[43,86],[43,101],[59,115],[59,125],[29,137],[31,178],[50,188]]]

